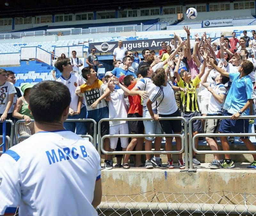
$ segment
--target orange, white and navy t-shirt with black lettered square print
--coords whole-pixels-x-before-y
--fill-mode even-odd
[[[84,94],[88,118],[92,118],[96,122],[102,118],[108,118],[108,106],[104,99],[97,104],[95,109],[91,108],[91,105],[100,98],[106,88],[107,86],[99,79],[95,80],[91,86],[86,83],[80,86],[81,93]]]

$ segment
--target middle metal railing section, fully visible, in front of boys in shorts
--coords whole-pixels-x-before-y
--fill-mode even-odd
[[[116,134],[116,135],[105,135],[101,137],[101,123],[106,121],[145,121],[151,120],[152,118],[103,118],[98,123],[98,152],[104,154],[180,154],[185,150],[185,160],[188,161],[188,145],[187,133],[184,133],[184,137],[181,134]],[[181,120],[184,123],[184,130],[187,131],[187,122],[184,117],[159,117],[159,120]],[[181,131],[180,131],[181,132]],[[109,137],[180,137],[181,138],[181,149],[179,151],[105,151],[104,150],[104,139]],[[185,164],[185,169],[188,169],[188,163]]]

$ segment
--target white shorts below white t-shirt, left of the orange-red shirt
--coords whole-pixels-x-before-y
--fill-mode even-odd
[[[114,135],[114,134],[129,134],[129,128],[128,124],[118,124],[118,125],[113,125],[109,126],[109,134]],[[118,142],[118,137],[111,137],[110,139],[110,148],[115,149],[117,142]],[[122,148],[127,148],[129,142],[128,142],[128,137],[123,137],[120,138],[121,140],[121,146]]]

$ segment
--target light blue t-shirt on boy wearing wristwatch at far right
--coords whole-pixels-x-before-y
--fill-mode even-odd
[[[223,109],[228,113],[235,114],[244,107],[249,99],[252,99],[252,80],[250,76],[240,79],[240,73],[229,73],[232,85],[229,89]],[[246,109],[242,115],[249,115],[250,108]]]

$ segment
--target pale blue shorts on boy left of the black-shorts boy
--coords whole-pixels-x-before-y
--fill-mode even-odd
[[[154,114],[157,114],[157,110],[153,110]],[[148,111],[143,110],[143,117],[151,118],[151,115]],[[145,127],[145,133],[146,134],[162,134],[162,129],[159,121],[143,121],[144,127]],[[153,140],[154,137],[145,137],[147,140]]]

